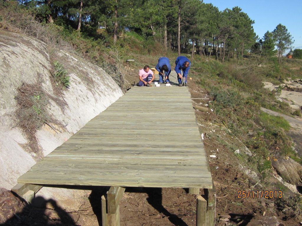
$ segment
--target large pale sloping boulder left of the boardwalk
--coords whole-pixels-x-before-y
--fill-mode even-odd
[[[76,54],[51,49],[37,39],[0,30],[0,46],[0,187],[10,190],[17,184],[17,178],[39,160],[37,153],[28,148],[27,137],[18,127],[15,116],[15,96],[23,83],[37,84],[44,93],[61,98],[66,104],[62,108],[50,100],[48,113],[60,124],[45,124],[35,133],[44,156],[104,111],[123,92],[102,68]],[[57,96],[51,82],[54,60],[63,64],[70,76],[69,89],[63,89],[61,96]],[[52,191],[42,188],[39,193],[53,197]],[[64,196],[62,190],[57,193]],[[72,196],[69,191],[65,193]]]

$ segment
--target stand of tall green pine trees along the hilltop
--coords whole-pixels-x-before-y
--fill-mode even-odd
[[[118,36],[127,27],[146,39],[161,42],[163,49],[216,55],[225,61],[243,58],[244,52],[272,56],[277,46],[279,59],[292,45],[292,37],[279,24],[256,42],[254,20],[238,6],[219,11],[200,0],[18,0],[38,20],[72,28],[104,39]],[[100,28],[104,33],[97,32]],[[102,36],[103,34],[103,36]]]

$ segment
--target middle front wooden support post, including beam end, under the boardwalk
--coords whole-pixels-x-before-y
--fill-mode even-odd
[[[124,187],[110,187],[107,192],[107,199],[105,196],[101,197],[103,226],[120,225],[120,200],[124,191]]]

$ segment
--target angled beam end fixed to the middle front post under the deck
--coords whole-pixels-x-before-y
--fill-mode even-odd
[[[124,191],[125,191],[124,187],[110,187],[107,193],[108,213],[115,214],[117,212]]]

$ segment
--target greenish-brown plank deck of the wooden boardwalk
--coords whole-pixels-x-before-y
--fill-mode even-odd
[[[133,87],[18,183],[212,188],[188,87]]]

